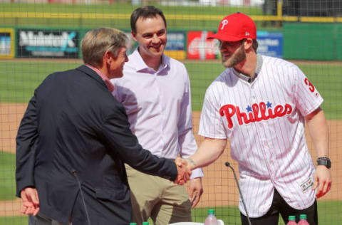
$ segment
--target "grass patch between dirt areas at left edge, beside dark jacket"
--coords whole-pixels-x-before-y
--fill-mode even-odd
[[[0,151],[0,201],[16,199],[16,156]]]

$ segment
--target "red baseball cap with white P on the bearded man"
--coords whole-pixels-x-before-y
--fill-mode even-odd
[[[244,38],[257,38],[257,27],[254,21],[246,14],[236,13],[224,17],[217,33],[207,39],[217,38],[221,41],[240,41]]]

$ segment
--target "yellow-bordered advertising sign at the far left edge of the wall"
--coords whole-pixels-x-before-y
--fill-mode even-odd
[[[0,58],[14,58],[14,29],[0,28]]]

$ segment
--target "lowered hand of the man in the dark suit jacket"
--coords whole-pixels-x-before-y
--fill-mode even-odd
[[[36,216],[39,211],[39,198],[37,189],[34,187],[26,187],[21,190],[21,200],[23,201],[23,206],[21,213],[25,215]]]

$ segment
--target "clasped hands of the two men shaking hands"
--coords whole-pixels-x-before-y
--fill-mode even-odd
[[[177,178],[175,179],[175,184],[183,185],[188,180],[190,180],[190,175],[192,174],[192,169],[195,169],[195,162],[192,159],[182,159],[177,157],[175,159],[175,164],[177,165]]]

